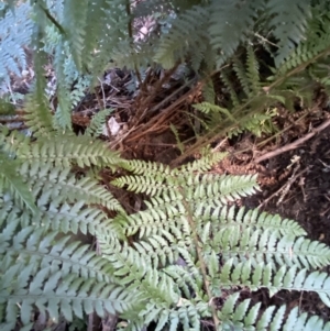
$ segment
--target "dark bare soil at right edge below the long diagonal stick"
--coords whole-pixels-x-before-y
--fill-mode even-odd
[[[245,202],[250,207],[262,205],[262,210],[296,220],[307,231],[308,238],[330,245],[329,143],[330,129],[328,128],[297,150],[272,159],[276,183],[262,184],[262,192]],[[290,166],[292,159],[297,157],[299,161]],[[270,163],[271,159],[265,161],[264,165],[267,167]],[[289,184],[294,174],[296,178]],[[275,192],[278,195],[272,197]],[[327,271],[329,272],[330,268],[327,267]],[[286,304],[290,308],[298,306],[301,312],[316,313],[329,320],[330,309],[316,294],[280,291],[270,299],[267,291],[261,290],[258,296],[265,307],[274,304]]]

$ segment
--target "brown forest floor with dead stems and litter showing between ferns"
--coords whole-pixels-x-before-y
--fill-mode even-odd
[[[166,87],[167,82],[150,76],[144,90],[134,95],[128,88],[130,79],[130,74],[121,70],[105,74],[101,85],[92,92],[86,91],[74,110],[75,130],[84,130],[99,109],[113,108],[114,120],[108,122],[102,136],[111,148],[128,158],[173,164],[180,148],[170,124],[176,125],[177,135],[187,145],[195,142],[194,125],[187,112],[198,101],[198,91],[191,93],[194,87],[175,79],[170,82],[173,86]],[[13,81],[13,91],[20,91],[20,82]],[[330,111],[323,97],[316,97],[312,107],[301,107],[294,113],[278,106],[275,135],[255,137],[244,133],[232,140],[223,136],[213,141],[211,147],[228,152],[228,156],[212,172],[257,174],[261,191],[241,201],[243,205],[294,219],[310,239],[330,245],[330,125],[327,124]],[[56,97],[51,103],[56,106]],[[116,128],[116,134],[107,134]],[[134,203],[121,202],[128,208]],[[300,311],[317,313],[326,320],[330,316],[330,309],[317,295],[282,291],[270,299],[266,291],[260,290],[252,299],[262,299],[265,306],[298,306]]]

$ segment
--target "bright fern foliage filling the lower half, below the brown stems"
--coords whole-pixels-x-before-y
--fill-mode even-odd
[[[330,306],[330,277],[319,272],[330,249],[306,239],[292,220],[235,208],[258,186],[255,176],[206,173],[226,154],[206,150],[170,169],[123,161],[90,136],[55,131],[31,140],[3,128],[0,139],[1,330],[14,328],[18,318],[32,328],[35,311],[55,322],[117,313],[130,330],[153,321],[158,330],[199,330],[204,319],[220,320],[220,330],[328,328],[318,317],[240,299],[240,287],[267,288],[271,296],[308,290]],[[128,214],[84,175],[95,166],[132,172],[112,185],[147,194],[145,207]],[[79,233],[95,235],[101,255],[79,243]],[[224,305],[210,305],[222,290],[232,293]]]

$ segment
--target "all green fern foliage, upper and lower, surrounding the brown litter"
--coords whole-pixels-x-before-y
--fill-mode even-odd
[[[151,323],[156,330],[200,330],[204,323],[217,330],[329,330],[329,322],[297,307],[265,308],[241,295],[242,288],[264,288],[270,296],[314,291],[330,307],[330,277],[322,271],[330,249],[308,240],[293,220],[235,207],[258,190],[256,176],[209,173],[224,157],[209,150],[175,169],[124,161],[97,140],[108,110],[80,136],[70,122],[73,107],[110,59],[134,69],[187,60],[201,76],[227,63],[220,77],[230,98],[221,103],[208,81],[211,102],[196,106],[210,117],[208,129],[222,123],[229,135],[267,132],[272,128],[261,126],[273,113],[258,110],[285,102],[282,87],[299,88],[292,76],[307,67],[309,79],[329,85],[321,70],[329,65],[323,58],[328,12],[307,0],[289,5],[284,0],[150,3],[139,2],[133,10],[124,0],[1,7],[4,79],[24,67],[25,45],[34,47],[36,76],[24,114],[32,137],[0,126],[1,330],[30,330],[37,312],[55,322],[109,312],[122,320],[119,328],[136,331]],[[162,9],[166,29],[134,40],[134,19]],[[267,82],[255,56],[258,19],[279,46],[277,74]],[[21,21],[29,29],[11,33]],[[55,115],[45,95],[47,55],[54,56],[57,78]],[[318,58],[322,62],[312,64]],[[108,183],[89,175],[105,167],[132,174],[111,185],[147,196],[141,210],[129,214],[103,186]],[[88,235],[95,236],[98,253],[81,242]]]

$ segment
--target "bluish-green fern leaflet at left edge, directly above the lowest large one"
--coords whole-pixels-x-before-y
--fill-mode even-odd
[[[46,231],[34,225],[19,230],[20,219],[12,220],[0,233],[0,261],[2,268],[15,262],[34,267],[61,266],[63,276],[76,274],[84,279],[111,280],[112,267],[108,261],[97,256],[88,245],[69,243],[70,236],[59,236],[58,232]]]

